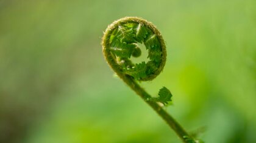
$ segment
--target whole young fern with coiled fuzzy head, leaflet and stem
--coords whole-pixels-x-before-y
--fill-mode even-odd
[[[145,45],[149,61],[133,64],[130,61],[131,56],[141,55],[141,47],[138,43]],[[150,105],[183,142],[198,142],[157,103],[166,105],[171,101],[172,95],[168,88],[161,88],[158,97],[152,98],[138,84],[138,81],[151,81],[165,66],[165,41],[151,22],[137,17],[126,17],[114,21],[104,32],[102,48],[107,63],[116,75]]]

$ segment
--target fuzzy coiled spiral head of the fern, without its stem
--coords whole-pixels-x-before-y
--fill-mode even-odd
[[[133,64],[131,56],[141,55],[138,43],[145,45],[149,61]],[[126,17],[108,25],[102,45],[105,59],[113,70],[138,81],[154,79],[165,66],[165,42],[157,28],[144,19]]]

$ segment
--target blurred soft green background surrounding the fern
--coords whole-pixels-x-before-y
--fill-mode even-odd
[[[107,25],[153,22],[166,108],[205,142],[256,142],[255,0],[0,0],[0,142],[180,142],[102,56]]]

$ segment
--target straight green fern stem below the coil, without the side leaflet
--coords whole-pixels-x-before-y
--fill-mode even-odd
[[[188,142],[186,141],[185,137],[191,138],[191,136],[188,135],[187,131],[185,131],[182,126],[174,118],[172,118],[171,115],[163,110],[163,108],[160,107],[157,102],[147,100],[148,98],[151,98],[151,95],[149,95],[143,88],[141,88],[140,85],[138,85],[137,82],[135,82],[130,76],[123,74],[120,74],[119,76],[121,79],[123,79],[124,82],[126,82],[127,85],[129,85],[130,88],[132,88],[133,91],[137,93],[137,95],[139,95],[148,105],[150,105],[163,120],[165,120],[169,127],[175,131],[175,133],[179,136],[180,139],[182,139],[183,142]]]

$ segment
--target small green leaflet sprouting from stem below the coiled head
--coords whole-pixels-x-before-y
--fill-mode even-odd
[[[157,98],[149,98],[149,101],[161,102],[163,105],[167,105],[169,101],[171,101],[171,91],[168,88],[163,87],[158,92],[159,97]]]

